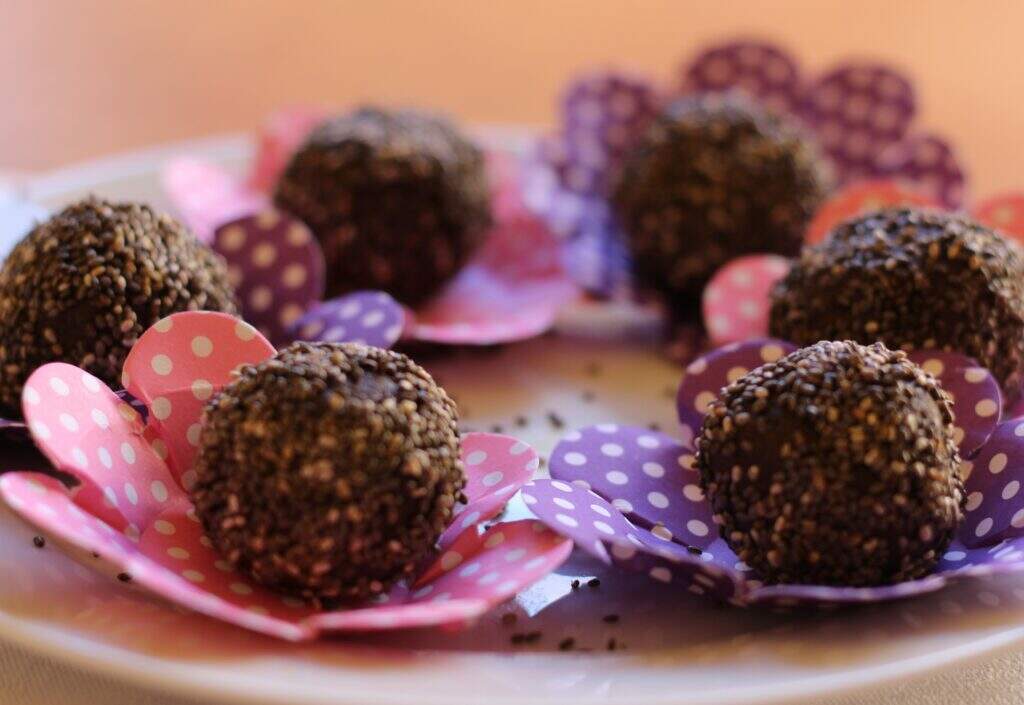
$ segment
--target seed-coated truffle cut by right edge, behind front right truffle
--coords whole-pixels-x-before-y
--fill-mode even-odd
[[[1024,256],[959,215],[870,213],[804,250],[772,292],[770,330],[802,345],[852,339],[958,351],[1014,399],[1024,367]]]

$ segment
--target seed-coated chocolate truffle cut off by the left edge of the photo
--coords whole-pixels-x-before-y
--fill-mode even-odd
[[[40,365],[120,386],[128,350],[181,310],[236,313],[223,260],[168,215],[89,198],[40,223],[0,268],[0,407],[14,414]]]

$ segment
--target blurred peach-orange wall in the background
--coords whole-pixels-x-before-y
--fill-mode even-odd
[[[667,78],[737,33],[782,41],[809,69],[896,61],[975,193],[1024,186],[1014,0],[0,0],[0,169],[245,130],[295,101],[550,124],[579,69]]]

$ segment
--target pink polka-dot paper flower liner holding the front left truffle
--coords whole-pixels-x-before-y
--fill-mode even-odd
[[[39,368],[23,395],[32,437],[69,490],[25,471],[0,476],[0,496],[49,536],[97,553],[132,582],[184,608],[286,639],[330,631],[462,623],[547,575],[571,542],[535,520],[483,530],[539,465],[525,444],[503,436],[463,439],[468,503],[411,584],[380,599],[319,612],[236,573],[203,535],[188,499],[202,408],[232,370],[274,352],[249,324],[224,314],[175,314],[132,348],[124,383],[148,421],[83,370]]]

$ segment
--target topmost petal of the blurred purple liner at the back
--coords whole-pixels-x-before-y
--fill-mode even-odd
[[[800,110],[802,86],[797,63],[774,44],[734,41],[711,46],[681,73],[687,92],[739,89],[776,114]]]

